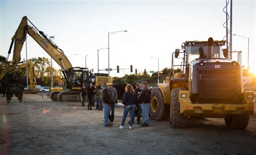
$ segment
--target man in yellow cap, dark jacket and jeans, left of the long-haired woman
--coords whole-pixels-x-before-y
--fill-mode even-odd
[[[104,103],[104,124],[106,127],[112,127],[113,125],[109,123],[109,113],[114,102],[112,99],[111,85],[112,83],[107,83],[106,89],[104,89],[102,93]]]

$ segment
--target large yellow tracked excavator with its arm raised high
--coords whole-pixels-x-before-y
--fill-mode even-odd
[[[31,23],[32,26],[28,25],[28,22]],[[43,31],[38,30],[37,27],[26,16],[22,18],[14,37],[12,37],[7,60],[11,53],[13,44],[14,55],[12,57],[12,62],[8,62],[6,64],[6,68],[1,73],[0,79],[2,79],[3,76],[9,72],[15,70],[20,62],[21,50],[24,41],[26,40],[26,34],[30,35],[48,53],[48,55],[55,60],[60,68],[62,68],[63,75],[66,79],[66,90],[62,91],[57,89],[55,91],[51,91],[50,98],[55,101],[79,101],[81,85],[85,83],[85,86],[89,86],[89,83],[95,83],[95,76],[93,76],[93,74],[87,68],[73,68],[69,59],[64,54],[64,51],[58,48],[58,46],[53,43]],[[108,77],[106,82],[112,82],[112,78]]]

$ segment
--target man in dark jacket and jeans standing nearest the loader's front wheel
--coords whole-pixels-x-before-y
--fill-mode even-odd
[[[138,96],[138,103],[142,108],[143,124],[140,124],[140,126],[147,127],[149,126],[149,108],[150,108],[151,91],[149,90],[149,87],[147,87],[146,81],[142,82],[141,84],[142,84],[142,91]]]

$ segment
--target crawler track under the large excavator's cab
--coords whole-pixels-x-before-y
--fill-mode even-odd
[[[57,95],[57,100],[59,102],[80,102],[81,96],[80,91],[62,91]]]

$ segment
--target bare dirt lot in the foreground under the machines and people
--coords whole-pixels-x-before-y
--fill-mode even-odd
[[[188,129],[150,120],[150,127],[104,127],[103,111],[81,103],[52,102],[47,96],[0,97],[0,154],[255,154],[256,114],[246,130],[226,129],[224,119],[190,119]],[[129,120],[129,119],[128,119]],[[126,120],[126,122],[128,122]]]

